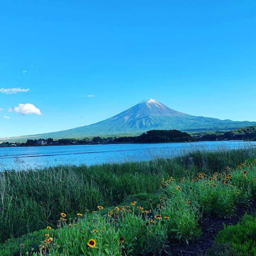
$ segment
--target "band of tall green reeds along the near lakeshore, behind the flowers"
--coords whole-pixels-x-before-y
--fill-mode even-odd
[[[156,193],[162,178],[235,168],[256,158],[256,148],[216,151],[194,149],[172,159],[100,165],[60,165],[0,173],[0,241],[55,225],[60,212],[70,215],[97,205],[123,202],[129,195]]]

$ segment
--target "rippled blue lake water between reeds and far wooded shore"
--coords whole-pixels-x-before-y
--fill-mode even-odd
[[[101,164],[173,157],[189,149],[216,150],[256,145],[243,141],[204,141],[193,143],[108,144],[0,148],[0,170],[24,169],[57,164]]]

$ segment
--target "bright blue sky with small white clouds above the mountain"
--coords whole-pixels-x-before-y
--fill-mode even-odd
[[[0,137],[92,124],[147,98],[256,121],[255,11],[254,0],[4,1]]]

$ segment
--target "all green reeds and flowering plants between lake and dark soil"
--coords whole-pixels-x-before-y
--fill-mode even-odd
[[[202,216],[225,216],[236,205],[249,204],[256,193],[255,158],[256,148],[249,147],[194,150],[140,163],[5,171],[0,173],[1,241],[49,226],[35,235],[33,250],[42,254],[159,253],[168,241],[188,243],[200,236]],[[54,241],[42,242],[44,233]],[[32,246],[26,239],[7,241],[2,254],[14,255],[18,246],[25,255]]]

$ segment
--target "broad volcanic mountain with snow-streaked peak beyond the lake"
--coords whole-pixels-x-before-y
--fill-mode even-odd
[[[60,132],[49,132],[28,136],[4,138],[2,140],[27,140],[38,138],[84,138],[91,136],[121,136],[140,134],[148,130],[171,130],[180,131],[215,131],[233,130],[246,126],[256,125],[256,122],[220,120],[204,116],[191,116],[173,110],[164,104],[153,100],[143,100],[116,116],[95,124],[81,126]]]

